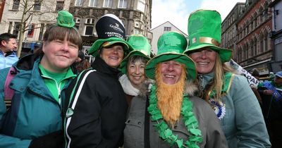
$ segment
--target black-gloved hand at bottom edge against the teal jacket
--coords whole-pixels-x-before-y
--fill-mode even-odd
[[[51,132],[48,135],[37,137],[30,142],[28,148],[61,148],[63,147],[63,130]]]

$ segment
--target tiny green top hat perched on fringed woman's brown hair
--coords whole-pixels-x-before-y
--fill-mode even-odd
[[[73,15],[68,11],[59,11],[56,20],[57,20],[57,24],[61,27],[75,26],[75,21],[73,21]]]

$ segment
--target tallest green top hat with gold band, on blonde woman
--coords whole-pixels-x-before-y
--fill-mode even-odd
[[[221,16],[217,11],[198,10],[188,18],[189,45],[184,51],[190,54],[197,49],[209,47],[219,53],[221,61],[230,61],[231,49],[223,49],[221,44]]]

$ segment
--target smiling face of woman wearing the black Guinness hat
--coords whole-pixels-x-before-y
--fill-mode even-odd
[[[123,54],[123,47],[119,44],[103,47],[100,51],[100,57],[112,68],[118,68],[123,60]]]

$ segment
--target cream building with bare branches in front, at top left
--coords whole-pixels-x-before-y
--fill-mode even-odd
[[[48,25],[56,23],[58,11],[68,11],[70,2],[71,0],[6,0],[0,22],[0,34],[9,32],[19,38],[20,25],[25,25],[22,49],[23,52],[28,52],[35,42],[42,40]]]

